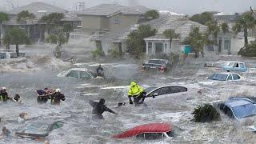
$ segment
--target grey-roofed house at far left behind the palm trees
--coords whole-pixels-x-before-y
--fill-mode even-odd
[[[25,21],[18,22],[17,15],[23,10],[27,10],[30,13],[35,15],[33,19],[26,19]],[[64,14],[64,18],[60,25],[63,23],[70,23],[74,28],[77,28],[81,23],[77,18],[76,14],[68,12],[67,10],[63,10],[57,6],[52,6],[45,2],[32,2],[28,5],[18,7],[17,9],[10,10],[8,12],[10,20],[4,24],[4,28],[19,26],[22,29],[26,30],[29,34],[30,38],[34,40],[34,42],[44,42],[45,33],[46,33],[46,23],[40,22],[42,16],[51,13],[62,13]]]

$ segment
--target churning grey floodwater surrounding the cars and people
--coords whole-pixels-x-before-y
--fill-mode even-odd
[[[0,143],[42,143],[26,138],[18,138],[15,131],[33,121],[62,121],[64,126],[53,130],[46,138],[50,143],[254,143],[256,135],[246,129],[254,125],[254,118],[244,122],[235,122],[222,114],[222,121],[210,123],[193,122],[191,114],[195,107],[204,103],[226,100],[235,95],[255,95],[255,74],[243,73],[241,82],[220,82],[203,85],[206,77],[218,71],[203,68],[204,59],[186,62],[177,66],[170,74],[144,74],[138,65],[118,62],[106,65],[107,79],[57,78],[56,74],[67,70],[69,66],[26,72],[1,72],[1,86],[6,86],[11,96],[20,94],[24,104],[13,102],[0,104],[0,126],[11,130],[9,137],[0,139]],[[92,65],[93,64],[87,64]],[[104,67],[104,63],[102,64]],[[127,102],[127,86],[131,80],[142,86],[179,85],[189,89],[187,94],[174,94],[168,98],[146,99],[147,106],[121,106],[118,102]],[[255,79],[256,80],[256,79]],[[34,90],[60,88],[66,95],[66,101],[60,106],[50,103],[38,105]],[[197,91],[201,90],[202,94]],[[118,115],[104,113],[104,121],[91,118],[92,108],[88,101],[106,99],[106,106]],[[26,112],[32,120],[18,123],[18,114]],[[141,140],[136,138],[114,139],[133,126],[150,122],[169,122],[174,126],[175,137],[170,139]]]

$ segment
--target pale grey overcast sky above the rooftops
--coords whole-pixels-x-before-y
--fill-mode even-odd
[[[256,9],[256,0],[0,0],[0,6],[8,9],[8,2],[15,6],[23,6],[30,2],[47,2],[54,6],[74,9],[76,2],[86,2],[86,7],[96,6],[101,3],[119,3],[122,5],[143,5],[157,10],[170,10],[183,14],[197,14],[203,11],[222,11],[234,13]]]

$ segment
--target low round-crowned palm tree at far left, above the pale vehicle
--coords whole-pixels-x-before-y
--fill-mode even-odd
[[[7,30],[3,40],[6,45],[14,44],[16,46],[17,57],[19,56],[18,45],[30,44],[30,38],[27,36],[26,32],[18,27]]]

